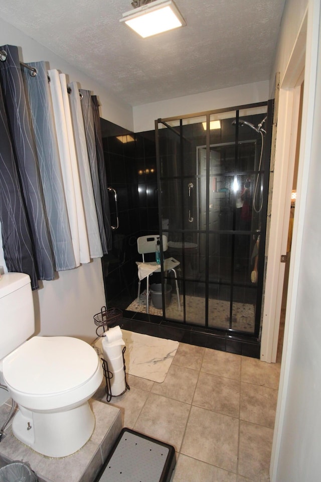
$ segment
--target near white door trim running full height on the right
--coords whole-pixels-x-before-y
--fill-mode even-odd
[[[297,199],[296,213],[294,216],[292,255],[290,260],[289,284],[287,294],[287,306],[285,317],[284,344],[282,352],[282,363],[280,372],[280,384],[278,401],[276,408],[275,426],[272,442],[272,453],[270,463],[271,482],[277,482],[279,452],[282,442],[283,424],[289,385],[289,373],[292,362],[293,332],[295,330],[295,312],[297,303],[297,288],[300,283],[300,258],[303,238],[304,215],[306,209],[306,193],[308,186],[309,163],[311,155],[312,133],[313,133],[313,113],[315,104],[315,85],[316,69],[318,61],[318,36],[320,22],[320,3],[318,0],[310,0],[301,24],[296,44],[292,51],[292,56],[288,62],[288,67],[284,79],[289,79],[294,89],[293,79],[295,78],[295,66],[299,58],[305,59],[304,67],[304,96],[302,105],[302,129],[300,136],[300,152],[297,180]],[[305,28],[305,34],[304,34]],[[303,41],[302,37],[303,34]],[[298,44],[301,48],[298,47]],[[293,55],[296,53],[296,55]],[[301,55],[298,55],[301,54]],[[291,80],[292,79],[292,80]],[[286,84],[285,88],[286,88]],[[290,88],[290,87],[288,87]]]

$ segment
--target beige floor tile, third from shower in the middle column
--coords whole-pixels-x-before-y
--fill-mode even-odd
[[[192,406],[181,453],[236,473],[239,421]]]

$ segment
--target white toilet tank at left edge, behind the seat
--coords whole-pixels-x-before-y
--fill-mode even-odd
[[[35,331],[30,277],[6,273],[0,279],[0,360]]]

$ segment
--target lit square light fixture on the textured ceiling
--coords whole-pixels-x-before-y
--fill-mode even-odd
[[[186,25],[173,0],[136,0],[131,5],[137,8],[125,12],[119,22],[125,22],[142,38]]]

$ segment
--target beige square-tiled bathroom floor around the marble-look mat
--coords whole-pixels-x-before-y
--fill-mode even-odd
[[[172,482],[268,482],[280,363],[180,342],[162,384],[128,376],[124,427],[174,445]],[[104,386],[95,394],[105,401]]]

